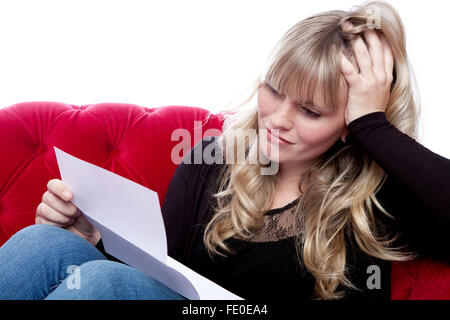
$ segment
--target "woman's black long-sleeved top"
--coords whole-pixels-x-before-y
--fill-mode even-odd
[[[450,160],[400,132],[383,112],[367,114],[347,127],[347,143],[364,148],[388,174],[376,197],[396,220],[386,220],[376,206],[373,210],[394,233],[403,234],[396,244],[407,244],[420,256],[450,262]],[[236,255],[208,256],[203,233],[213,216],[211,195],[216,190],[211,186],[223,164],[196,164],[193,155],[214,141],[211,137],[197,143],[172,177],[161,208],[168,255],[244,299],[311,299],[314,278],[297,259],[293,236],[261,242],[231,238],[226,243]],[[275,219],[297,201],[269,210],[265,216]],[[101,242],[97,248],[104,252]],[[373,265],[379,267],[381,286],[370,289],[368,268]],[[345,299],[390,299],[390,262],[354,248],[348,250],[347,267],[348,277],[361,291],[342,287]]]

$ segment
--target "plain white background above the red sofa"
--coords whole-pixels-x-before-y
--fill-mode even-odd
[[[25,101],[226,108],[275,42],[347,0],[0,1],[0,108]],[[448,1],[389,0],[421,96],[419,141],[450,158]]]

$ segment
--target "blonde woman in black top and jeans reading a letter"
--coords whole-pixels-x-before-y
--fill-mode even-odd
[[[169,255],[243,298],[297,300],[389,299],[390,261],[449,259],[450,161],[413,139],[411,77],[400,17],[384,2],[297,23],[247,101],[257,102],[226,113],[223,134],[178,166],[162,206]],[[242,145],[237,155],[264,161],[191,164],[206,150],[236,160]],[[50,181],[37,225],[0,248],[0,297],[183,299],[106,260],[72,196]],[[33,279],[30,261],[43,270]]]

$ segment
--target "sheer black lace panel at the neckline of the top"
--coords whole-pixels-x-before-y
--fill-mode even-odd
[[[294,209],[299,198],[282,208],[271,209],[264,214],[263,227],[250,239],[242,239],[235,235],[235,239],[248,242],[276,242],[294,237],[303,231],[303,223],[295,226]]]

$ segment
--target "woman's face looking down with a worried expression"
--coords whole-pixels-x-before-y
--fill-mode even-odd
[[[326,108],[319,91],[314,93],[313,105],[294,101],[290,97],[275,92],[273,88],[262,84],[258,91],[258,127],[276,130],[288,143],[278,143],[270,138],[268,149],[278,143],[278,160],[260,149],[266,157],[291,165],[307,166],[326,152],[346,133],[344,111],[347,91],[341,86],[337,110]],[[271,153],[271,151],[269,151]]]

